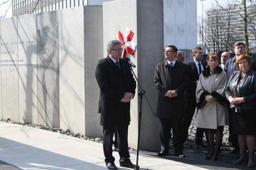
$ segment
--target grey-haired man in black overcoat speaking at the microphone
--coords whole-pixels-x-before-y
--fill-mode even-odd
[[[100,88],[100,125],[103,126],[103,152],[108,169],[116,170],[112,156],[114,131],[117,128],[120,166],[135,168],[128,150],[128,125],[130,101],[135,95],[136,81],[128,64],[121,59],[121,42],[111,40],[107,45],[108,56],[96,67],[96,80]]]

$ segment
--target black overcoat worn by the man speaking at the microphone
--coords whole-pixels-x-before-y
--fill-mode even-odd
[[[100,125],[118,127],[130,125],[130,102],[122,102],[124,92],[135,95],[136,81],[123,60],[119,60],[121,70],[109,56],[96,67],[96,80],[100,88]]]

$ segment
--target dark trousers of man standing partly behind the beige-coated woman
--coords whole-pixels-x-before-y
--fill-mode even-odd
[[[182,142],[186,141],[188,136],[188,128],[191,125],[197,103],[195,102],[185,102],[185,117],[182,120]]]

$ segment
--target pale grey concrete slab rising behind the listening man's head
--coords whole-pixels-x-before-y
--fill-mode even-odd
[[[185,53],[184,63],[193,60],[197,46],[197,1],[163,0],[164,46],[175,45]]]

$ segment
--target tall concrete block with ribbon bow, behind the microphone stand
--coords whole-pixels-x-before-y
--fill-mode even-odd
[[[123,13],[125,15],[113,15]],[[111,17],[109,17],[111,16]],[[117,32],[124,34],[125,29],[130,28],[134,32],[132,41],[137,44],[135,54],[126,54],[137,66],[133,69],[142,88],[147,92],[146,96],[154,110],[156,110],[157,90],[154,87],[154,72],[156,64],[163,62],[163,1],[154,0],[120,0],[103,3],[103,42],[106,47],[109,40],[115,39]],[[151,43],[152,42],[152,43]],[[106,54],[105,48],[104,53]],[[141,89],[137,85],[136,93]],[[131,101],[131,122],[129,126],[128,142],[132,148],[137,148],[138,137],[138,96]],[[145,99],[142,100],[142,124],[140,149],[157,150],[160,148],[158,138],[158,119],[152,116]]]

